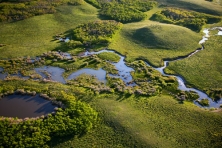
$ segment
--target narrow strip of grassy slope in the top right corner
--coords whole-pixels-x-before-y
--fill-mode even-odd
[[[160,5],[179,7],[208,14],[222,15],[221,4],[206,0],[157,0]]]

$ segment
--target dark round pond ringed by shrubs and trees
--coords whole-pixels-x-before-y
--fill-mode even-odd
[[[9,95],[0,100],[0,116],[4,117],[37,117],[54,111],[55,106],[39,95]]]

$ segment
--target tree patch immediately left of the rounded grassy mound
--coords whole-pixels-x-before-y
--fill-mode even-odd
[[[122,24],[116,21],[96,21],[82,24],[74,29],[74,40],[81,41],[87,47],[106,46],[121,26]]]

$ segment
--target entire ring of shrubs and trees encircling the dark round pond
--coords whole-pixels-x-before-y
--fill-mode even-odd
[[[0,84],[0,93],[6,94],[11,90],[24,88],[48,93],[51,97],[62,100],[66,105],[65,109],[58,108],[56,114],[38,118],[0,117],[1,147],[45,147],[53,137],[85,134],[97,120],[97,113],[89,105],[77,101],[72,94],[61,91],[64,86],[59,84],[54,84],[57,86],[51,87],[50,90],[48,90],[50,85],[33,81],[0,81]]]

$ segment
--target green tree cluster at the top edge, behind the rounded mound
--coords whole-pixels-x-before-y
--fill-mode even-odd
[[[156,6],[157,2],[148,0],[86,0],[97,8],[100,15],[122,23],[137,22],[146,18],[146,12]]]

